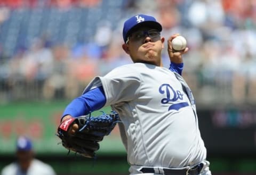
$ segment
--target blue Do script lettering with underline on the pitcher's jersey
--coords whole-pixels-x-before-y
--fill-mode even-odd
[[[183,100],[183,93],[179,90],[174,90],[173,87],[171,87],[169,84],[163,84],[159,87],[159,93],[160,94],[165,94],[166,98],[163,98],[161,100],[162,104],[167,104],[169,102],[175,102],[178,101],[178,99]],[[181,102],[181,103],[176,103],[172,104],[169,106],[168,111],[170,110],[176,110],[179,111],[181,107],[186,107],[188,106],[188,102]]]

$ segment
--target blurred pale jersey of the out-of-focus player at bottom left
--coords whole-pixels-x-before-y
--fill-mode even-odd
[[[11,163],[2,170],[1,175],[55,175],[54,170],[48,164],[42,161],[34,159],[27,172],[22,172],[19,164],[14,162]]]

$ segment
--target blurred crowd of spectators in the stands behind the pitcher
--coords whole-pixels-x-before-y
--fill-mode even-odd
[[[0,3],[0,29],[13,11],[22,8],[54,7],[68,11],[72,8],[93,9],[103,2],[4,0]],[[145,13],[155,15],[162,23],[162,36],[166,40],[176,33],[187,38],[190,50],[184,56],[183,76],[194,91],[197,102],[209,105],[220,104],[220,101],[221,104],[256,102],[256,1],[108,2],[118,2],[122,13],[113,14],[118,19],[115,23],[104,21],[104,16],[99,19],[101,22],[94,21],[98,26],[93,34],[83,36],[90,39],[56,41],[52,39],[51,31],[47,31],[31,39],[26,47],[17,47],[13,53],[7,54],[0,43],[0,101],[79,95],[94,76],[103,76],[116,66],[131,63],[122,51],[123,21],[127,16]],[[168,67],[170,61],[166,47],[163,59],[164,66]]]

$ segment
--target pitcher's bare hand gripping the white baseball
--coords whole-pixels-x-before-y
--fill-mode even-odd
[[[173,46],[172,46],[172,40],[176,38],[177,36],[180,36],[179,34],[174,34],[172,35],[168,40],[167,40],[167,49],[168,49],[168,54],[170,57],[170,61],[173,63],[182,63],[182,55],[188,52],[188,47],[181,51],[176,51]]]

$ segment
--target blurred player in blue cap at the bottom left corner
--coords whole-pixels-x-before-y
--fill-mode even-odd
[[[50,165],[34,158],[33,145],[27,137],[17,139],[16,157],[17,162],[5,166],[1,175],[55,175]]]

